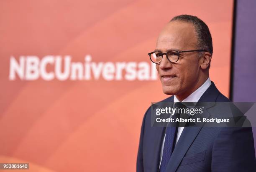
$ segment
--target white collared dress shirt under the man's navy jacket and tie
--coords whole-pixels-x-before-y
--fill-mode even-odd
[[[208,77],[208,79],[205,81],[205,83],[203,83],[203,85],[201,85],[201,87],[199,87],[197,90],[192,92],[192,94],[189,95],[187,98],[185,98],[182,102],[198,102],[198,100],[201,98],[201,96],[204,94],[204,92],[207,90],[207,88],[210,87],[211,84],[212,84],[212,82],[210,81],[210,78]],[[180,102],[180,101],[174,95],[174,103],[175,102]],[[177,144],[179,137],[182,134],[183,129],[184,129],[184,127],[178,127],[175,145]],[[164,134],[164,140],[163,140],[163,144],[162,144],[162,148],[161,148],[160,165],[161,165],[162,155],[163,155],[163,150],[164,150],[164,141],[165,141],[165,134]],[[160,168],[160,165],[159,165],[159,168]]]

